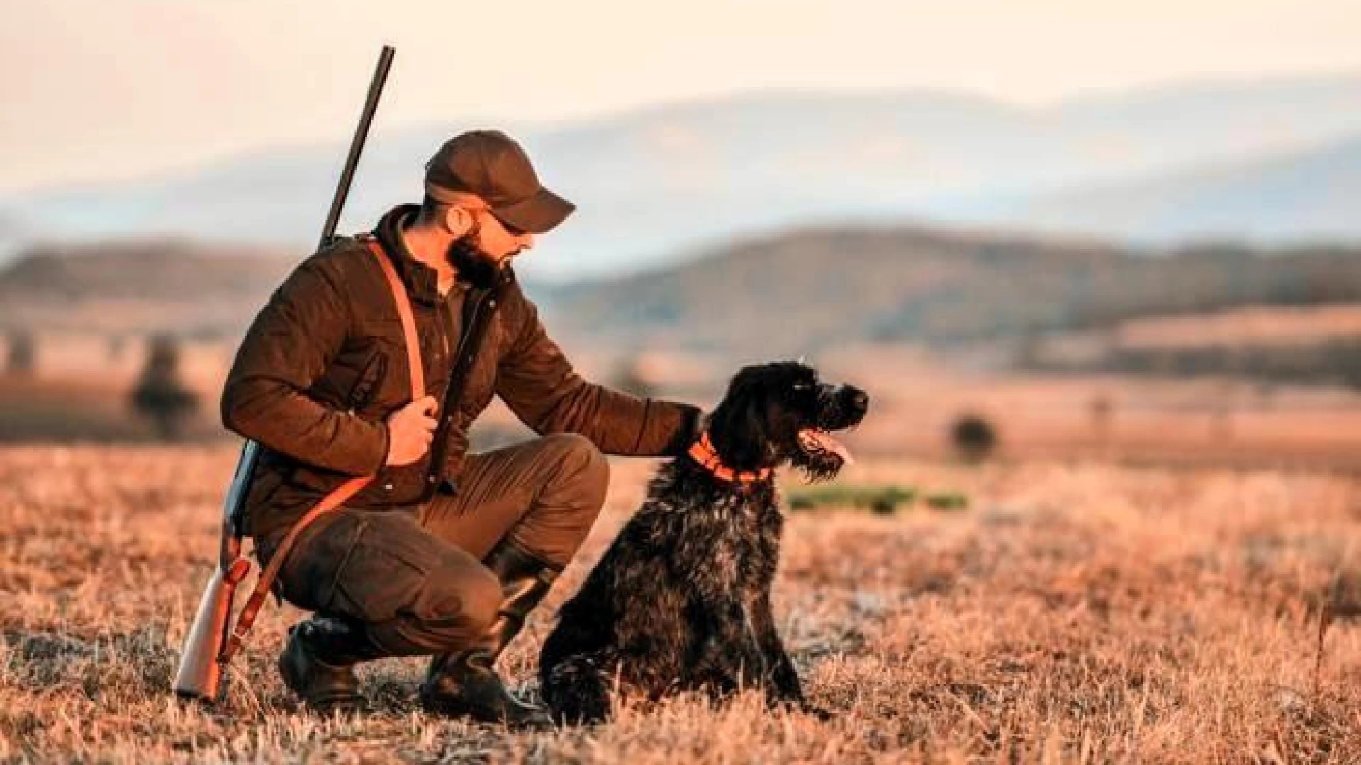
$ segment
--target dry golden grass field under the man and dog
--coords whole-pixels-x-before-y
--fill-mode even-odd
[[[517,735],[426,717],[416,660],[362,670],[378,712],[299,712],[269,607],[229,711],[169,686],[231,446],[0,449],[0,761],[1358,762],[1361,482],[1022,461],[868,461],[848,485],[969,506],[791,517],[776,611],[826,723],[751,694],[626,705]],[[607,513],[505,666],[531,691],[551,611],[636,506]],[[788,489],[796,486],[787,478]]]

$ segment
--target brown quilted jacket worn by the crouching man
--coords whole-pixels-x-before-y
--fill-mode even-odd
[[[479,290],[459,282],[440,295],[434,270],[412,259],[397,235],[399,223],[415,212],[415,206],[392,210],[373,235],[406,284],[427,391],[440,400],[464,309],[478,302]],[[483,297],[480,310],[489,302],[495,308],[461,396],[438,414],[449,419],[444,466],[431,470],[427,453],[410,466],[385,467],[384,421],[411,399],[391,289],[361,238],[340,238],[298,265],[250,325],[222,392],[223,425],[265,446],[246,500],[248,531],[278,538],[352,475],[377,472],[351,500],[355,506],[418,504],[431,478],[440,478],[441,490],[456,490],[468,426],[494,395],[536,433],[580,433],[606,453],[668,456],[689,445],[695,407],[583,380],[513,278],[499,299]]]

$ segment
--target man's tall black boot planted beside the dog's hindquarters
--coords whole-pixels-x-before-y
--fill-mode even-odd
[[[478,645],[438,655],[430,662],[430,672],[421,685],[421,705],[430,712],[505,723],[513,728],[553,727],[553,719],[542,708],[510,696],[497,675],[495,662],[510,638],[520,633],[525,615],[547,595],[558,569],[510,540],[497,544],[485,564],[501,580],[497,621]]]

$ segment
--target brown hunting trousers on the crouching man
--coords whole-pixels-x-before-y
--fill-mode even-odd
[[[498,543],[561,570],[604,504],[608,461],[555,434],[468,455],[456,491],[418,509],[339,508],[309,525],[279,573],[290,603],[366,625],[391,656],[457,651],[491,626],[501,583],[482,559]],[[268,554],[278,539],[264,540]]]

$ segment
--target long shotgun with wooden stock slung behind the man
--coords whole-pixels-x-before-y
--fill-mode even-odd
[[[359,124],[355,127],[354,137],[350,140],[350,154],[346,157],[340,180],[336,184],[336,193],[331,199],[331,211],[327,222],[321,227],[321,240],[317,249],[325,249],[335,238],[336,225],[340,222],[340,211],[344,210],[346,197],[350,195],[350,184],[354,181],[355,167],[359,165],[359,154],[363,143],[369,137],[369,127],[373,124],[373,114],[378,109],[378,98],[382,97],[382,86],[388,80],[388,69],[392,68],[395,50],[385,45],[378,54],[378,65],[373,71],[373,80],[369,83],[369,95],[363,102],[363,112],[359,114]],[[241,542],[245,536],[245,505],[246,494],[250,489],[250,478],[255,474],[256,463],[260,461],[263,446],[249,438],[241,446],[241,456],[237,459],[237,470],[231,474],[231,486],[222,504],[222,542],[218,546],[218,566],[208,580],[203,598],[199,602],[199,611],[193,618],[193,625],[185,636],[184,649],[180,652],[180,668],[174,678],[174,691],[180,698],[193,698],[200,701],[222,701],[226,698],[226,663],[229,655],[225,652],[227,634],[231,626],[231,600],[237,585],[250,572],[250,561],[241,557]]]

